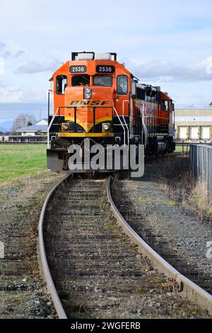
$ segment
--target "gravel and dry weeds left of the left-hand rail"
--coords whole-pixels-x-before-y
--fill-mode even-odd
[[[56,314],[40,278],[37,225],[42,203],[61,175],[39,171],[0,185],[0,318],[52,318]]]

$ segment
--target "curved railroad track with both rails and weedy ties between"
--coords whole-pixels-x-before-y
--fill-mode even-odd
[[[212,296],[126,223],[112,200],[111,180],[67,176],[43,205],[40,262],[58,317],[212,315]]]

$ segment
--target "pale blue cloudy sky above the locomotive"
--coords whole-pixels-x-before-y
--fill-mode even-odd
[[[49,78],[84,50],[117,52],[177,107],[212,102],[211,0],[0,0],[0,125],[45,118]]]

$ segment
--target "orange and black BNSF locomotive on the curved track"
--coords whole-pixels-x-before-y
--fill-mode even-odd
[[[85,138],[107,145],[145,145],[146,154],[175,150],[174,104],[160,87],[139,84],[116,53],[73,52],[52,79],[47,166],[68,170],[69,146]]]

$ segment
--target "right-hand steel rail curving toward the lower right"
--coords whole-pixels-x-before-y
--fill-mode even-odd
[[[203,310],[208,311],[209,315],[212,315],[212,295],[207,293],[204,289],[196,285],[186,276],[183,276],[179,271],[167,263],[157,252],[155,252],[144,240],[129,226],[124,220],[123,216],[119,213],[117,206],[114,204],[111,195],[111,180],[112,176],[107,179],[107,198],[110,202],[112,211],[117,218],[117,222],[122,226],[126,235],[139,247],[139,250],[143,256],[147,256],[153,263],[158,271],[165,273],[168,278],[174,283],[177,283],[180,293],[187,296],[187,298],[196,305],[199,305]]]

